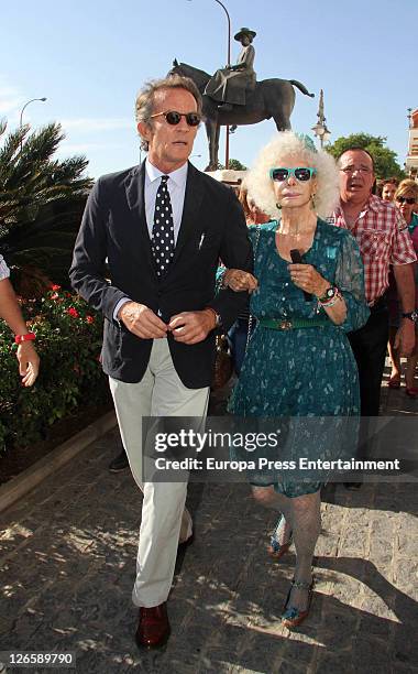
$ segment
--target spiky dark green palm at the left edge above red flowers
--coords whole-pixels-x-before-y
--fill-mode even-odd
[[[35,296],[52,279],[66,284],[72,250],[86,195],[88,161],[54,154],[65,138],[57,123],[6,134],[0,126],[0,252],[12,268],[13,284]]]

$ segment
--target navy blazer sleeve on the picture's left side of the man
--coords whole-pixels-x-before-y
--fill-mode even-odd
[[[69,279],[75,291],[114,323],[113,309],[127,296],[106,279],[109,206],[99,178],[87,199],[76,239]]]

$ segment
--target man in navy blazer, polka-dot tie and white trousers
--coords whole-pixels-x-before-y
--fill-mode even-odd
[[[191,520],[185,482],[143,479],[142,417],[205,417],[216,331],[228,330],[248,300],[228,287],[216,295],[218,261],[252,269],[232,189],[188,163],[200,118],[191,80],[172,76],[143,88],[136,122],[147,159],[97,181],[70,269],[73,286],[105,316],[102,367],[144,494],[132,597],[140,607],[136,642],[148,648],[169,635],[166,599],[182,519],[186,536]],[[163,239],[167,246],[160,247]]]

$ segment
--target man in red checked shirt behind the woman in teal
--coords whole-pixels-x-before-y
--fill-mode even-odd
[[[372,195],[375,181],[373,157],[367,151],[352,148],[338,160],[340,204],[333,224],[349,229],[355,237],[364,263],[365,294],[371,316],[360,330],[349,335],[359,367],[361,413],[377,416],[381,384],[388,339],[388,312],[385,292],[389,265],[393,265],[404,317],[396,336],[396,348],[410,354],[415,344],[416,256],[408,227],[392,203]],[[409,314],[409,316],[405,316]]]

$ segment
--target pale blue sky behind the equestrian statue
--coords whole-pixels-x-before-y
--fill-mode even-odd
[[[403,165],[407,108],[418,107],[414,26],[418,1],[224,0],[232,36],[256,31],[258,79],[298,79],[316,94],[296,94],[293,128],[309,132],[318,96],[332,133],[386,135]],[[240,44],[232,37],[234,62]],[[415,51],[415,54],[413,53]],[[174,57],[207,72],[227,62],[227,18],[215,0],[19,0],[2,3],[0,117],[33,128],[59,121],[66,132],[59,154],[85,154],[98,176],[136,164],[140,157],[134,99],[146,79],[167,73]],[[275,131],[274,122],[240,127],[230,155],[251,165]],[[223,161],[223,139],[220,160]],[[201,128],[193,162],[207,164]]]

